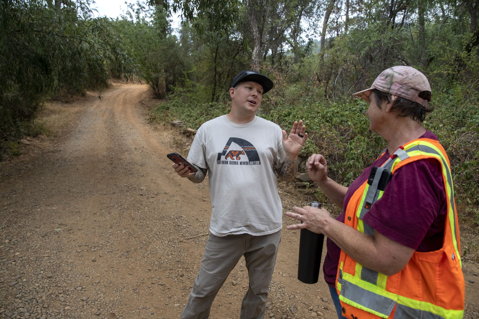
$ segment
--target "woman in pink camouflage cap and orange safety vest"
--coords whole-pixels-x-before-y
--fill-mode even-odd
[[[456,319],[464,314],[459,226],[450,162],[422,127],[433,110],[426,77],[411,67],[384,70],[371,88],[369,128],[388,142],[349,187],[328,177],[313,154],[309,177],[343,209],[294,207],[286,215],[328,237],[324,279],[338,318]]]

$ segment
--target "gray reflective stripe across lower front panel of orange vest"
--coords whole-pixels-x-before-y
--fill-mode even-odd
[[[378,295],[358,285],[354,285],[349,281],[343,280],[341,269],[339,270],[339,274],[338,282],[341,284],[341,296],[383,315],[389,316],[391,314],[392,309],[396,306],[396,300]],[[343,302],[348,303],[347,301]]]

